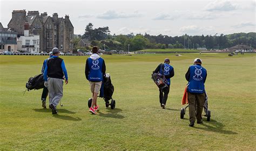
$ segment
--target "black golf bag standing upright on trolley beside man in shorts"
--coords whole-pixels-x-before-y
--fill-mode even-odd
[[[114,86],[111,83],[110,75],[106,74],[102,83],[102,87],[100,88],[99,97],[103,97],[105,102],[107,102],[112,99],[113,92]]]

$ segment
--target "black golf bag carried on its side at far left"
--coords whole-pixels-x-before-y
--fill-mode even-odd
[[[26,88],[29,90],[38,90],[44,88],[44,75],[39,74],[34,77],[30,77],[29,81],[26,83]]]

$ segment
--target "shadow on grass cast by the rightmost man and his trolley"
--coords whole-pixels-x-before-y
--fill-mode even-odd
[[[206,125],[207,124],[211,124],[213,126],[210,125]],[[237,134],[237,132],[233,132],[233,131],[228,131],[228,130],[223,130],[223,128],[225,127],[225,125],[223,125],[222,123],[211,119],[211,121],[204,121],[203,124],[201,124],[205,127],[194,127],[200,130],[205,130],[205,131],[212,131],[212,132],[217,132],[217,133],[222,133],[222,134]]]

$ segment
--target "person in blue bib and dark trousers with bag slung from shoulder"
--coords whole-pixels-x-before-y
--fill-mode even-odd
[[[165,105],[167,102],[168,94],[170,92],[170,85],[171,85],[171,77],[174,76],[174,68],[170,65],[170,59],[166,58],[164,63],[160,63],[156,70],[153,73],[160,73],[166,78],[167,81],[167,88],[159,89],[159,102],[160,106],[165,109]]]

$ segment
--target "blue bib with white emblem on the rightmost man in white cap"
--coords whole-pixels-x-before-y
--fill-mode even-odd
[[[201,64],[190,66],[186,73],[186,80],[188,81],[188,92],[194,94],[203,94],[205,92],[205,81],[207,71]]]

